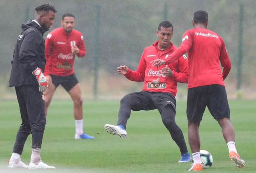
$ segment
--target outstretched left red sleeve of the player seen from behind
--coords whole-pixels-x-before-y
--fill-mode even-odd
[[[172,63],[173,61],[183,56],[186,52],[188,52],[193,45],[193,38],[194,37],[191,31],[186,31],[183,34],[181,45],[168,58],[165,59],[166,64]]]

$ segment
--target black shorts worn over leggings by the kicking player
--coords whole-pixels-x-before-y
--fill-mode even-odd
[[[141,91],[130,94],[136,98],[133,100],[136,104],[131,107],[133,111],[158,109],[161,113],[168,104],[176,109],[176,99],[171,93]]]

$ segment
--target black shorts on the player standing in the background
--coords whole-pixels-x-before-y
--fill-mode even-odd
[[[75,74],[70,74],[68,76],[57,76],[53,74],[50,75],[52,77],[52,82],[55,85],[55,87],[57,88],[61,84],[67,92],[78,83]]]

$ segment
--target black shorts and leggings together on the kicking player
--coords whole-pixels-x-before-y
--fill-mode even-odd
[[[172,139],[179,146],[182,154],[187,153],[187,145],[182,130],[175,122],[176,101],[170,93],[160,92],[136,92],[124,96],[120,101],[117,125],[126,127],[131,110],[153,110],[158,109],[164,126],[169,130]],[[147,117],[146,117],[147,118]]]

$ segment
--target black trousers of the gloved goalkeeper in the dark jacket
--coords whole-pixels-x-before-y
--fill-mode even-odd
[[[27,136],[32,134],[32,148],[41,148],[46,124],[43,93],[38,87],[25,85],[15,87],[20,106],[21,126],[17,132],[13,153],[21,155]]]

